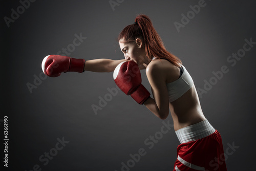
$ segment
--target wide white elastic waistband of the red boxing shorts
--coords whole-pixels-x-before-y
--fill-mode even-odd
[[[194,125],[189,125],[177,130],[175,133],[180,143],[186,143],[190,141],[196,141],[198,139],[207,137],[215,132],[214,127],[208,122],[208,120],[201,121]]]

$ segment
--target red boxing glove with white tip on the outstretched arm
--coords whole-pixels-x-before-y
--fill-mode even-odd
[[[58,77],[62,72],[83,72],[84,59],[48,55],[42,60],[42,71],[49,77]]]

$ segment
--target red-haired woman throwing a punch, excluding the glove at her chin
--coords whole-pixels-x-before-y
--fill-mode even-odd
[[[181,142],[174,170],[226,170],[221,136],[204,117],[193,79],[180,59],[165,49],[150,18],[138,15],[134,24],[122,30],[118,41],[125,59],[85,61],[49,55],[42,70],[55,77],[68,71],[112,72],[125,61],[137,63],[139,69],[146,69],[153,93],[153,98],[148,96],[139,103],[160,119],[167,118],[169,110],[172,115]]]

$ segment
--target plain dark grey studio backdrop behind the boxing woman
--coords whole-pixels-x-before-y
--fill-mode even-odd
[[[204,115],[222,135],[228,170],[251,170],[255,5],[1,1],[1,165],[7,154],[9,170],[173,170],[179,141],[170,115],[161,120],[116,89],[113,73],[50,78],[41,70],[49,54],[122,59],[115,38],[143,13],[193,77]],[[150,90],[145,70],[141,75]],[[216,168],[215,159],[211,164]]]

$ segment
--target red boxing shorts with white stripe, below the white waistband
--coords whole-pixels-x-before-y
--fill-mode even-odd
[[[214,133],[177,148],[174,171],[226,171],[226,163],[220,133]]]

